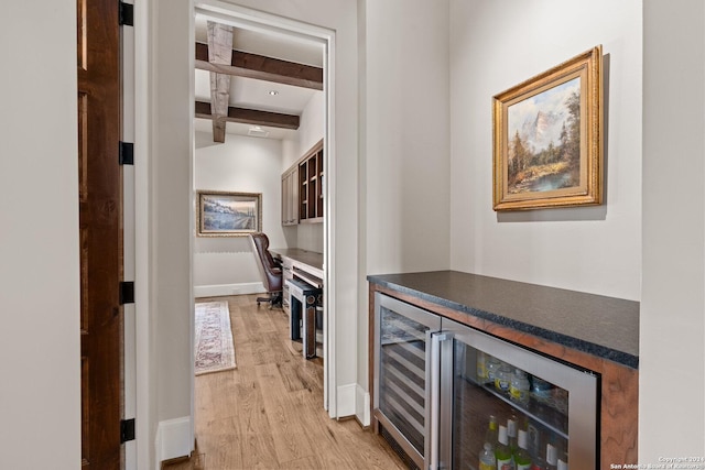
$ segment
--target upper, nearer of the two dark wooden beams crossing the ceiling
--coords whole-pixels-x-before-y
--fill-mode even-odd
[[[229,64],[208,61],[208,44],[196,43],[196,68],[275,84],[323,90],[323,68],[232,50]]]

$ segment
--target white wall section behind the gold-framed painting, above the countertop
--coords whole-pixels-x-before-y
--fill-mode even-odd
[[[641,1],[451,1],[451,267],[638,300]],[[603,44],[606,204],[492,210],[491,97]]]

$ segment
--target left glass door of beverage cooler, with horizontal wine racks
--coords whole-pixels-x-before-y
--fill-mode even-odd
[[[441,317],[393,297],[376,294],[375,417],[420,469],[425,464],[432,425],[427,342]]]

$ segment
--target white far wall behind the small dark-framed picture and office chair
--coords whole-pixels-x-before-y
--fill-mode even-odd
[[[271,248],[286,247],[281,225],[281,141],[227,134],[225,143],[214,143],[209,132],[196,132],[195,139],[195,189],[261,193],[262,231]],[[196,296],[248,293],[251,284],[260,284],[261,292],[249,237],[196,237]]]

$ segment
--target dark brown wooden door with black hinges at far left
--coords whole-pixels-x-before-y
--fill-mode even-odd
[[[118,0],[77,0],[84,469],[121,467],[122,176]]]

